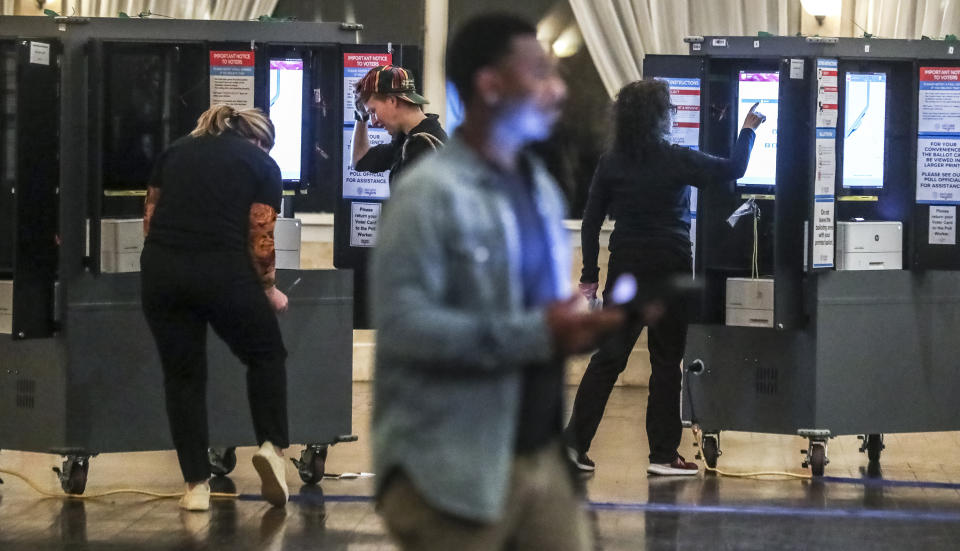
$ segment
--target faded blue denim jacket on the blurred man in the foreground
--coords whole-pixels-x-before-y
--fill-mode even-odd
[[[562,195],[531,159],[557,296],[570,291]],[[495,171],[458,138],[411,167],[380,223],[373,449],[380,485],[401,469],[431,505],[497,519],[509,491],[521,368],[554,357],[527,310],[517,221]]]

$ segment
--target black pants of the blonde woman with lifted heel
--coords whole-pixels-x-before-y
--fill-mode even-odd
[[[247,366],[257,444],[289,446],[286,350],[246,254],[147,244],[140,264],[143,311],[163,364],[167,416],[184,480],[210,477],[207,324]]]

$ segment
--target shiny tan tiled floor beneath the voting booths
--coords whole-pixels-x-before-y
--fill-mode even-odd
[[[587,486],[605,549],[960,548],[960,433],[890,436],[880,473],[867,472],[855,438],[834,439],[821,482],[657,479],[645,471],[645,400],[644,389],[615,389],[591,451],[598,467]],[[333,448],[328,472],[371,470],[368,385],[355,386],[354,404],[361,440]],[[721,468],[802,472],[800,438],[732,432],[722,438]],[[681,452],[695,454],[689,434]],[[0,549],[394,549],[368,499],[372,480],[300,488],[291,466],[288,479],[298,481],[293,502],[276,510],[258,499],[251,453],[238,450],[237,470],[215,488],[239,491],[241,499],[216,500],[208,514],[181,513],[169,499],[43,498],[0,475]],[[22,472],[54,493],[60,489],[51,468],[59,463],[51,455],[0,453],[0,469]],[[87,493],[122,487],[177,491],[175,456],[108,454],[91,461]]]

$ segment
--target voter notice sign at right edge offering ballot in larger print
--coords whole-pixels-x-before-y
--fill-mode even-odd
[[[917,202],[960,204],[960,67],[921,67],[919,99]]]

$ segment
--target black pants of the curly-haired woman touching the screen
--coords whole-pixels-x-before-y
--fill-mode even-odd
[[[617,377],[626,369],[630,352],[645,326],[639,313],[645,304],[659,303],[663,315],[647,327],[650,349],[650,397],[647,401],[647,441],[651,463],[670,463],[677,456],[683,427],[680,422],[680,362],[687,340],[687,305],[678,278],[689,278],[689,249],[654,250],[629,256],[613,253],[603,288],[604,304],[611,304],[613,282],[622,273],[632,273],[638,282],[637,299],[631,305],[633,322],[606,340],[590,358],[566,429],[570,446],[580,452],[590,448],[603,410]]]

